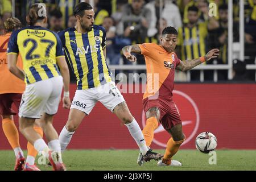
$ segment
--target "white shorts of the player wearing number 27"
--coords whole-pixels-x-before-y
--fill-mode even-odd
[[[63,77],[52,77],[26,86],[19,106],[19,117],[40,118],[42,113],[57,113]]]

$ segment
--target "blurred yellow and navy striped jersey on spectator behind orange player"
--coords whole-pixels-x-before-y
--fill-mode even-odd
[[[181,46],[181,60],[197,59],[205,55],[207,23],[199,23],[193,28],[186,26],[178,30],[178,46]]]

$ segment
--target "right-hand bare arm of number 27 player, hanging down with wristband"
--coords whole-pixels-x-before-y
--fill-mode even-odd
[[[69,69],[68,69],[68,64],[65,60],[65,57],[61,56],[61,57],[57,57],[57,65],[60,68],[60,73],[61,76],[63,77],[63,88],[64,88],[64,94],[63,94],[63,108],[64,109],[69,109],[71,102],[70,102],[70,98],[69,98],[69,82],[70,82],[70,78],[69,78]]]

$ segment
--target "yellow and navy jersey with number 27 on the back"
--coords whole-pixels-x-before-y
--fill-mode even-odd
[[[25,82],[47,80],[60,75],[56,57],[64,56],[59,36],[40,26],[28,26],[11,34],[7,54],[22,57]]]

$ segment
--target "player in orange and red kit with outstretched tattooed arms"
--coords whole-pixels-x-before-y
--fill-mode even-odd
[[[158,127],[159,122],[172,136],[167,142],[166,152],[163,159],[159,160],[158,166],[181,166],[180,162],[172,160],[172,156],[176,154],[185,140],[180,114],[172,100],[175,69],[187,71],[204,61],[217,57],[219,52],[218,49],[212,49],[198,59],[181,61],[174,52],[176,44],[177,30],[174,27],[166,27],[162,32],[160,45],[144,43],[125,46],[122,49],[123,55],[131,62],[137,60],[131,53],[142,54],[145,57],[147,86],[142,103],[147,121],[142,132],[147,146],[150,147],[154,138],[154,130]],[[140,166],[144,163],[141,154],[139,154],[137,162]]]

